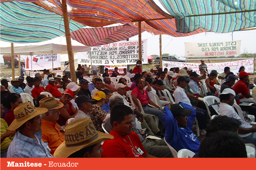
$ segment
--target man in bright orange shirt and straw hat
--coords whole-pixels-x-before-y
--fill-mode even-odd
[[[47,108],[48,111],[42,115],[42,140],[47,142],[51,149],[50,154],[54,154],[57,147],[65,140],[64,132],[60,131],[57,120],[59,120],[58,109],[64,104],[55,100],[54,97],[45,97],[39,101],[39,107]]]

